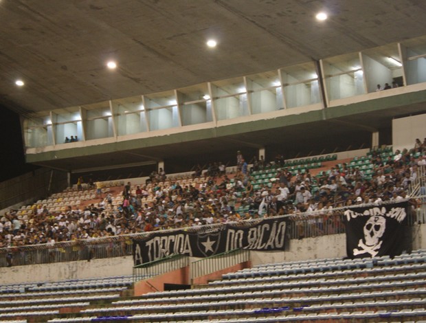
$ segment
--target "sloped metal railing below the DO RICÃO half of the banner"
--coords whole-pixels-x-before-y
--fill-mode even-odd
[[[230,250],[223,254],[203,258],[190,264],[190,279],[192,281],[194,278],[212,274],[249,260],[250,251],[247,249]]]

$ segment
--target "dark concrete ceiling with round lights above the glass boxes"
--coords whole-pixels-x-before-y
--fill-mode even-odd
[[[0,0],[0,103],[28,113],[268,71],[421,36],[425,17],[423,0]]]

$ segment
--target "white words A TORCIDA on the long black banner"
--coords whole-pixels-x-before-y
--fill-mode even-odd
[[[164,256],[170,256],[170,254],[188,254],[192,256],[190,237],[187,234],[155,236],[150,241],[146,242],[146,247],[148,248],[148,261],[161,259],[164,258]],[[137,245],[135,249],[135,261],[137,252],[139,252],[139,258],[142,263],[139,245]]]

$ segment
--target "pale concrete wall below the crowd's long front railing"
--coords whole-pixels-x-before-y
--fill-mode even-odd
[[[412,230],[413,249],[426,249],[426,225],[414,225]],[[316,238],[291,240],[287,252],[251,252],[251,265],[282,263],[307,259],[343,258],[346,256],[345,234],[333,234]],[[1,267],[0,277],[3,284],[19,282],[54,282],[67,279],[93,277],[124,276],[133,273],[131,256],[73,261],[31,266]],[[164,282],[188,282],[188,272],[179,274],[179,282],[168,277]],[[170,279],[169,279],[170,278]],[[208,277],[211,279],[211,277]],[[143,288],[142,288],[143,289]],[[141,291],[142,291],[141,289]],[[139,291],[140,292],[140,291]]]

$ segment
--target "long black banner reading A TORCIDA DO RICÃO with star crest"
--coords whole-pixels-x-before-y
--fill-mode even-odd
[[[208,232],[155,232],[133,243],[136,265],[173,254],[208,257],[234,249],[284,250],[285,219],[264,219],[254,225],[222,225]]]

